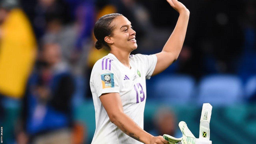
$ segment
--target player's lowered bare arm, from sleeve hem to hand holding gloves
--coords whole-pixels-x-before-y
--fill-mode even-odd
[[[106,93],[100,96],[110,121],[128,136],[145,144],[168,144],[162,136],[154,137],[140,128],[129,116],[123,112],[119,93]]]

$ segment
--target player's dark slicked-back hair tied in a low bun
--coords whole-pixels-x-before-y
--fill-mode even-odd
[[[101,49],[103,46],[110,49],[108,44],[105,42],[105,36],[111,36],[114,26],[111,25],[112,21],[122,14],[113,13],[102,16],[97,20],[94,25],[94,36],[97,39],[95,48]]]

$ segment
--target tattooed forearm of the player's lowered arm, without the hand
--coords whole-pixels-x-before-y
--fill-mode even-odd
[[[150,143],[150,138],[153,137],[151,134],[147,133],[145,130],[139,127],[129,116],[123,112],[115,115],[115,117],[112,119],[112,122],[128,136],[145,144]]]

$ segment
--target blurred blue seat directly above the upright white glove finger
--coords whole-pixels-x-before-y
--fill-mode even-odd
[[[229,105],[241,102],[242,81],[234,75],[210,75],[199,83],[199,105]]]

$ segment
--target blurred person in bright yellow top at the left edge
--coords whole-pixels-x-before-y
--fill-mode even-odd
[[[0,1],[0,125],[3,143],[13,142],[14,124],[27,78],[32,70],[36,40],[16,0]]]

